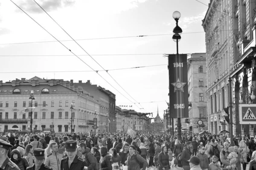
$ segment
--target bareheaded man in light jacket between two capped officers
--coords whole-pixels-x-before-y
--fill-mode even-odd
[[[52,170],[61,170],[61,159],[64,157],[64,154],[58,152],[58,144],[56,142],[52,142],[50,148],[52,153],[46,156],[44,164],[51,167]]]

